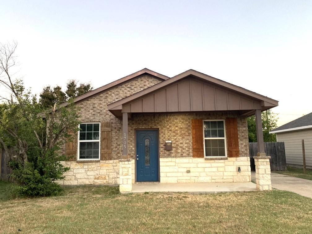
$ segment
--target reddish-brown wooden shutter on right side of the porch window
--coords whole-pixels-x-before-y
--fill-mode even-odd
[[[239,157],[237,119],[225,119],[227,131],[227,157]]]

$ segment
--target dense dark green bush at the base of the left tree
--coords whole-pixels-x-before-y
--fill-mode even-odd
[[[10,161],[13,169],[12,177],[18,183],[17,191],[21,196],[56,196],[63,189],[56,182],[64,179],[63,174],[69,170],[60,161],[65,156],[58,155],[56,149],[51,149],[41,156],[40,150],[28,153],[28,162],[23,166],[17,160]]]

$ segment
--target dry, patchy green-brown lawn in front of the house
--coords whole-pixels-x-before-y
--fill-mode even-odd
[[[3,233],[312,233],[311,220],[312,199],[278,190],[122,195],[76,186],[58,197],[7,193],[0,201]]]

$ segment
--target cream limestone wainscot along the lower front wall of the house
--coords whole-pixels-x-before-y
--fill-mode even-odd
[[[122,160],[122,159],[121,159]],[[119,160],[77,163],[63,162],[71,169],[65,173],[64,185],[75,184],[119,184]],[[135,182],[134,160],[131,173],[126,172],[126,180]],[[129,165],[130,166],[130,165]],[[238,172],[240,167],[241,172]],[[188,172],[189,171],[189,172]],[[201,183],[201,182],[250,182],[249,157],[205,160],[205,158],[160,158],[160,183]],[[126,184],[129,184],[127,181]]]

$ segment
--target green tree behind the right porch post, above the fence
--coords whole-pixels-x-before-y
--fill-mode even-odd
[[[271,110],[266,110],[261,113],[262,118],[262,130],[264,142],[276,142],[276,135],[270,134],[269,132],[277,128],[278,118]],[[249,142],[257,142],[257,131],[256,131],[256,117],[250,116],[247,119],[248,124],[248,140]]]

